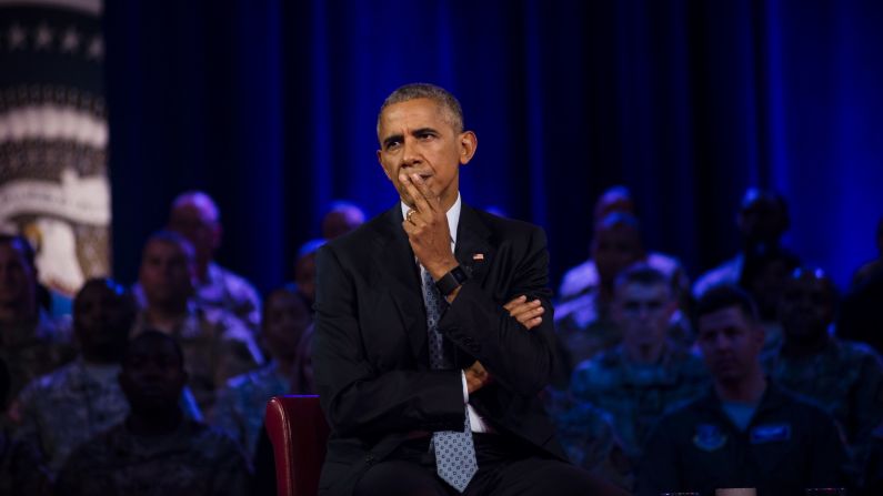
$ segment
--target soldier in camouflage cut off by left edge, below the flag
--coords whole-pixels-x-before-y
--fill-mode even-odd
[[[9,367],[8,398],[73,358],[70,323],[40,310],[34,253],[21,236],[0,234],[0,358]],[[6,422],[8,402],[2,409]]]

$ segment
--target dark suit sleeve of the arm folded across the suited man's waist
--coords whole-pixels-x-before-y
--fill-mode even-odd
[[[370,437],[462,428],[461,372],[378,371],[365,354],[357,284],[329,245],[317,255],[317,281],[313,368],[333,431]]]

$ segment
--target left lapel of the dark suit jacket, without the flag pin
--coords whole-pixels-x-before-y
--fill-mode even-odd
[[[402,229],[402,212],[399,204],[388,211],[385,230],[377,246],[378,273],[373,281],[385,282],[392,301],[399,308],[411,352],[418,364],[429,364],[427,350],[427,313],[421,293],[420,269],[414,261],[414,253]]]

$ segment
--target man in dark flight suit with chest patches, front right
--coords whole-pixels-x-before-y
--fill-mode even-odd
[[[639,496],[839,487],[845,452],[834,422],[764,376],[763,327],[751,296],[721,286],[696,306],[698,343],[714,385],[659,423],[639,468]]]

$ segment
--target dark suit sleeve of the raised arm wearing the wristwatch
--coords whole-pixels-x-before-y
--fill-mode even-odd
[[[548,287],[549,252],[542,230],[531,231],[526,250],[511,274],[506,301],[522,294],[540,298],[545,308],[542,324],[525,330],[503,308],[505,302],[494,301],[476,281],[468,280],[442,316],[439,331],[481,362],[503,387],[533,396],[550,381],[555,343]]]

